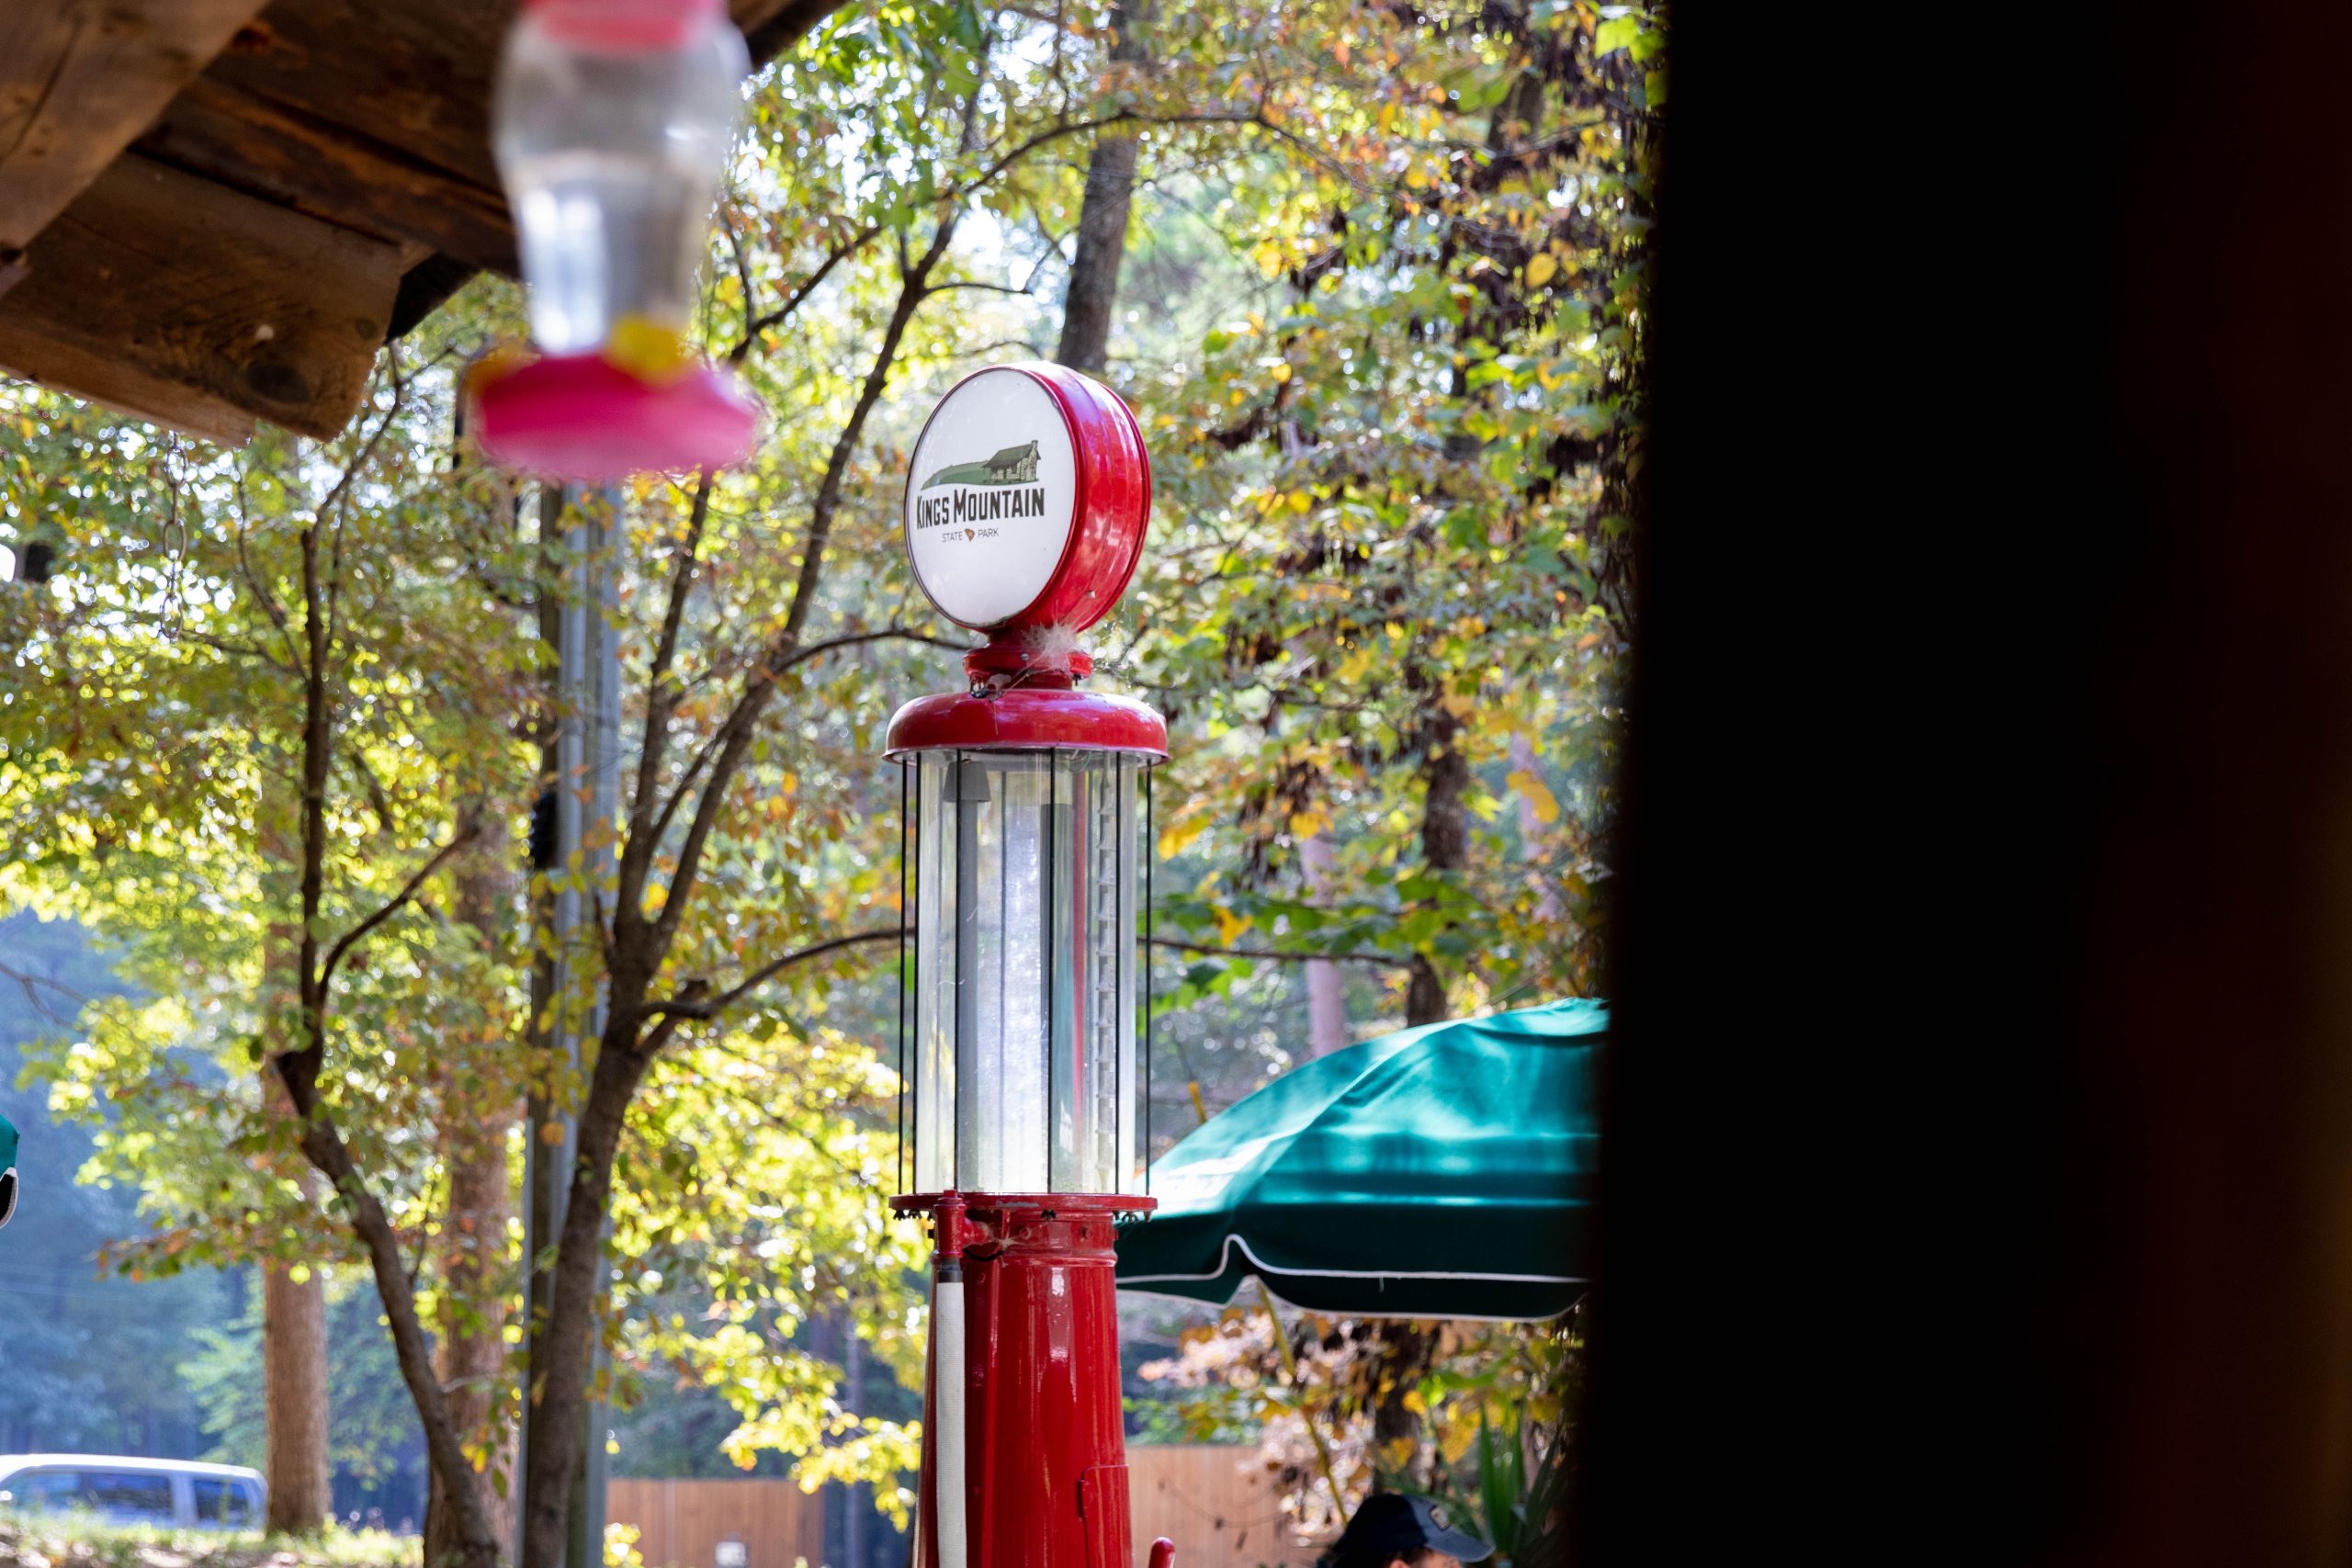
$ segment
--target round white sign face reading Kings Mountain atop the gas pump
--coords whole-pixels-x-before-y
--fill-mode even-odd
[[[906,555],[969,628],[1037,602],[1077,522],[1077,449],[1054,395],[1018,369],[967,376],[931,411],[906,480]]]

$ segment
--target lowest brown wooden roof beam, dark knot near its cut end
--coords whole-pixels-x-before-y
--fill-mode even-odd
[[[341,433],[402,273],[393,244],[136,153],[26,259],[31,275],[0,296],[0,364],[221,440],[221,407]],[[174,390],[193,397],[165,407]]]

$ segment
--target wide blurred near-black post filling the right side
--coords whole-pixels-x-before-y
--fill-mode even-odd
[[[2343,1563],[2352,12],[1922,16],[1672,21],[1578,1561]]]

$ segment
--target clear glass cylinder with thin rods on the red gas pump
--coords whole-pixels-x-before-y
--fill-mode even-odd
[[[915,1190],[1143,1190],[1136,780],[1120,750],[915,752]]]

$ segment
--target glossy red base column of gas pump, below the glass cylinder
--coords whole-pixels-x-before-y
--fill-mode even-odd
[[[1152,1199],[967,1192],[891,1206],[960,1232],[938,1237],[938,1251],[960,1251],[964,1276],[971,1561],[962,1568],[1134,1568],[1110,1232],[1120,1213],[1150,1211]],[[922,1519],[938,1519],[936,1371],[934,1340]],[[1169,1554],[1155,1542],[1152,1568],[1167,1568]],[[915,1568],[943,1568],[929,1526]]]

